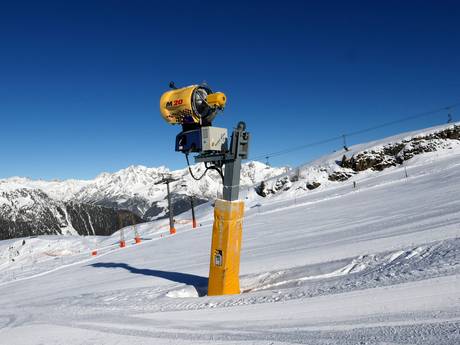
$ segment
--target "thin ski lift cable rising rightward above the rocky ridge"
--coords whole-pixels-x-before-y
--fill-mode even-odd
[[[456,108],[458,106],[460,106],[460,102],[451,104],[451,105],[446,106],[446,107],[426,111],[426,112],[423,112],[423,113],[417,113],[415,115],[406,116],[406,117],[403,117],[403,118],[400,118],[400,119],[397,119],[397,120],[394,120],[394,121],[384,122],[384,123],[381,123],[381,124],[378,124],[378,125],[375,125],[375,126],[372,126],[372,127],[364,128],[364,129],[361,129],[361,130],[357,130],[357,131],[354,131],[354,132],[344,133],[342,135],[338,135],[338,136],[335,136],[335,137],[319,140],[319,141],[316,141],[316,142],[312,142],[312,143],[308,143],[308,144],[304,144],[304,145],[299,145],[299,146],[294,146],[294,147],[286,148],[286,149],[280,150],[280,151],[274,151],[274,152],[270,152],[270,153],[260,154],[260,155],[257,155],[255,157],[252,157],[251,159],[254,159],[254,160],[263,159],[263,158],[268,159],[268,158],[271,158],[271,157],[285,155],[285,154],[295,152],[295,151],[299,151],[299,150],[303,150],[303,149],[306,149],[306,148],[309,148],[309,147],[324,145],[324,144],[327,144],[327,143],[330,143],[330,142],[343,140],[344,137],[351,137],[351,136],[371,132],[371,131],[374,131],[376,129],[388,127],[388,126],[391,126],[391,125],[394,125],[394,124],[397,124],[397,123],[401,123],[401,122],[405,122],[405,121],[409,121],[409,120],[413,120],[413,119],[433,115],[433,114],[436,114],[436,113],[438,113],[438,112],[440,112],[442,110],[451,110],[451,109]]]

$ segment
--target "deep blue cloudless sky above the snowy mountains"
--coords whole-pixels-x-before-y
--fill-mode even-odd
[[[170,80],[225,92],[214,125],[245,120],[253,157],[455,103],[459,23],[458,1],[2,2],[0,177],[183,167],[180,128],[158,110]],[[270,163],[294,166],[340,146]]]

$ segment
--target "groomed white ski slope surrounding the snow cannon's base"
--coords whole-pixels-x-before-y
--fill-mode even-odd
[[[459,344],[459,172],[453,145],[311,191],[241,191],[240,295],[206,296],[210,204],[197,229],[187,213],[175,235],[139,225],[140,244],[124,229],[126,248],[119,233],[2,241],[0,344]]]

